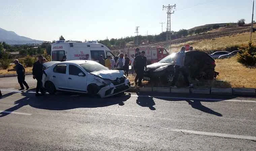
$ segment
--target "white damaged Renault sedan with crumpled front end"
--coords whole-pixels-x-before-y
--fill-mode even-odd
[[[90,60],[46,62],[43,64],[43,87],[50,94],[70,91],[99,95],[101,98],[130,89],[130,82],[122,70],[110,70]]]

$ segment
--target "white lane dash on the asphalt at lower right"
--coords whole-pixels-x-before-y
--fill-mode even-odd
[[[185,133],[198,134],[198,135],[217,136],[217,137],[223,137],[223,138],[244,139],[244,140],[256,141],[255,136],[233,135],[233,134],[213,133],[213,132],[203,132],[203,131],[193,131],[193,130],[182,130],[182,129],[169,129],[169,130],[173,131],[173,132],[185,132]]]

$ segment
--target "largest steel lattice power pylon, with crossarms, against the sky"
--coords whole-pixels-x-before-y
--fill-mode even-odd
[[[176,4],[174,4],[174,5],[169,4],[168,6],[163,5],[163,10],[167,9],[167,28],[166,28],[166,41],[167,41],[167,43],[169,43],[169,40],[171,40],[171,14],[174,13],[174,11],[172,11],[173,8],[174,9],[176,8]]]

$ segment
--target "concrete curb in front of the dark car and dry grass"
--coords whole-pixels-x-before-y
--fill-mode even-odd
[[[128,92],[161,92],[181,94],[218,94],[218,95],[251,95],[256,96],[254,88],[169,88],[169,87],[140,87],[131,86]]]

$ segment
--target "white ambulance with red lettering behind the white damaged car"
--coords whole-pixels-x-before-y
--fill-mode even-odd
[[[60,40],[52,44],[51,60],[61,61],[63,56],[68,60],[94,60],[98,61],[100,55],[113,59],[116,57],[105,45],[97,42],[64,41]]]

